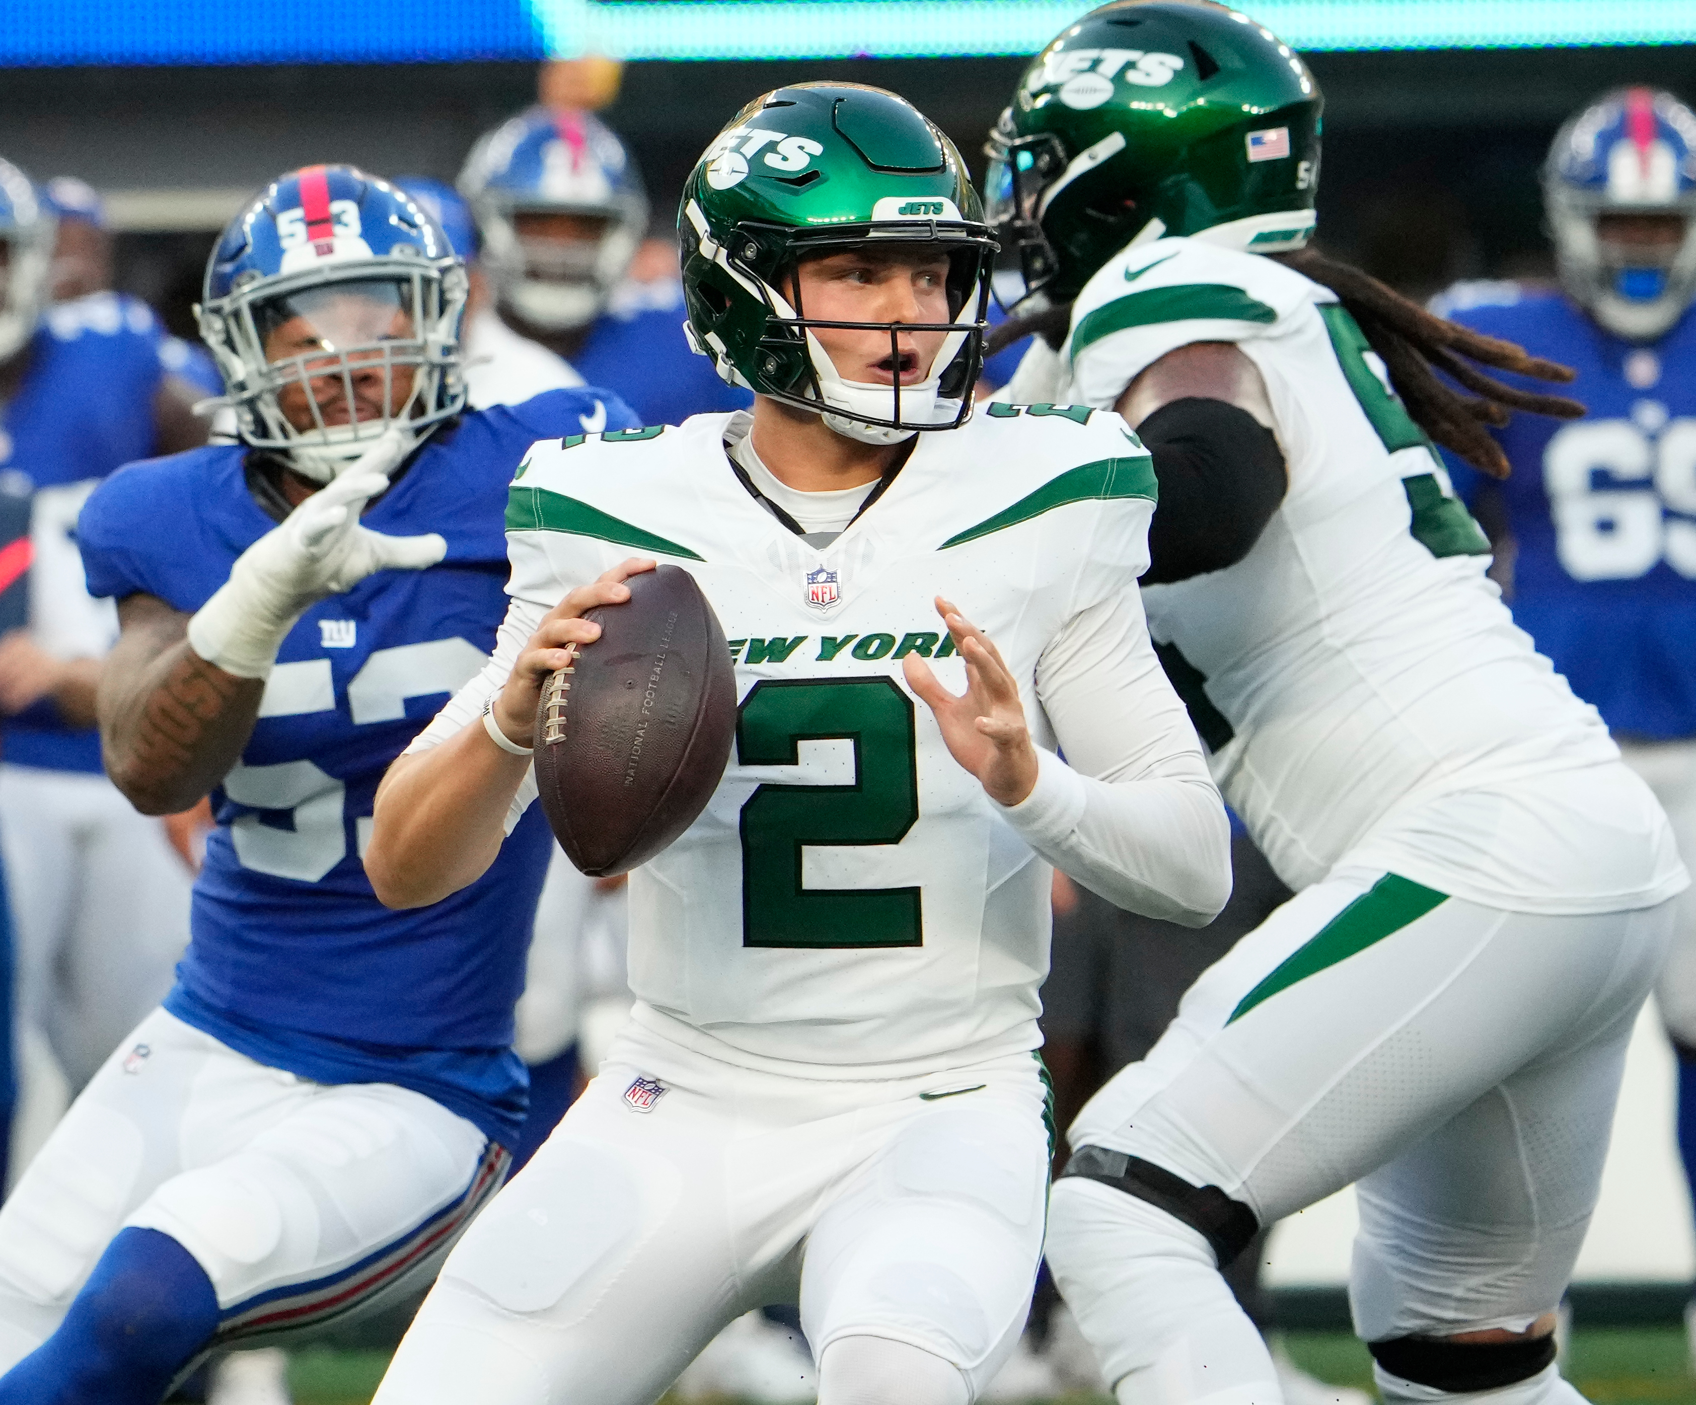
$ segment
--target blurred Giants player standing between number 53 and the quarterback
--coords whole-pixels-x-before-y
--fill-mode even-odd
[[[460,173],[482,236],[495,305],[483,321],[560,353],[587,380],[612,385],[643,424],[748,406],[739,382],[690,355],[677,277],[626,278],[648,231],[648,195],[624,143],[589,112],[533,107],[471,149]]]

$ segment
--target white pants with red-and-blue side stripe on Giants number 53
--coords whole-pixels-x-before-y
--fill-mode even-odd
[[[0,1374],[120,1229],[181,1244],[217,1293],[215,1344],[251,1346],[421,1288],[505,1164],[421,1093],[310,1083],[156,1010],[0,1208]]]

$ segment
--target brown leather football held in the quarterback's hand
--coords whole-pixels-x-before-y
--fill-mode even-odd
[[[736,736],[736,672],[719,618],[687,570],[633,575],[602,633],[548,677],[536,786],[560,848],[594,877],[646,864],[695,823]]]

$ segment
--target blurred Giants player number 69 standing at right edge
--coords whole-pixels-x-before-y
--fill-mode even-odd
[[[1494,431],[1503,482],[1450,456],[1491,526],[1515,623],[1594,702],[1696,855],[1696,112],[1621,88],[1576,112],[1543,166],[1559,288],[1460,283],[1433,305],[1577,372],[1589,414]],[[1655,988],[1679,1057],[1696,1183],[1696,901]],[[1696,1337],[1696,1305],[1686,1315]],[[1693,1344],[1696,1351],[1696,1344]]]

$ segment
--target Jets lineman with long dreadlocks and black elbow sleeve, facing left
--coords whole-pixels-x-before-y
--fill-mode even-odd
[[[1577,1400],[1555,1307],[1689,879],[1431,445],[1504,472],[1487,423],[1581,407],[1482,370],[1559,367],[1292,253],[1319,110],[1269,31],[1155,0],[1068,27],[990,137],[1052,338],[1014,390],[1150,446],[1150,633],[1296,891],[1072,1123],[1048,1261],[1121,1400],[1275,1402],[1219,1266],[1358,1183],[1386,1400]]]

